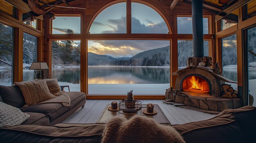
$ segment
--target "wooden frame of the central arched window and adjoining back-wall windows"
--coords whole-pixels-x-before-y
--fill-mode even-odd
[[[129,25],[129,20],[126,20],[128,24],[126,25],[126,31],[127,33],[124,34],[90,34],[90,26],[92,25],[92,22],[97,17],[103,9],[106,9],[107,7],[119,3],[119,2],[126,2],[126,7],[129,9],[131,7],[131,2],[138,2],[141,4],[145,4],[151,8],[153,8],[155,11],[159,13],[159,15],[162,16],[164,21],[166,22],[166,25],[169,29],[168,34],[143,34],[143,33],[131,33],[131,25]],[[128,3],[129,4],[128,4]],[[191,17],[191,13],[180,13],[177,15],[173,15],[173,18],[170,18],[164,9],[159,8],[157,4],[154,4],[153,2],[145,2],[145,1],[139,1],[139,0],[117,0],[114,2],[105,2],[101,5],[101,7],[97,8],[93,13],[90,12],[90,16],[85,15],[84,11],[70,11],[70,12],[62,12],[61,10],[56,9],[55,11],[52,11],[54,14],[58,15],[74,15],[74,14],[80,14],[81,15],[81,34],[47,34],[47,40],[49,40],[48,43],[48,51],[51,51],[51,40],[81,40],[81,91],[85,92],[88,95],[88,64],[87,64],[87,53],[88,53],[88,40],[170,40],[170,70],[171,70],[171,79],[170,79],[170,86],[175,85],[176,77],[172,75],[172,72],[177,70],[175,65],[175,58],[177,58],[177,40],[178,39],[184,39],[184,40],[191,40],[192,34],[177,34],[177,15],[189,15]],[[126,18],[129,18],[131,15],[129,14],[131,11],[127,11]],[[83,17],[85,19],[88,19],[88,21],[83,22]],[[204,18],[208,18],[208,30],[209,34],[204,34],[204,40],[209,40],[209,56],[213,57],[214,59],[214,53],[213,50],[215,42],[213,30],[213,14],[212,13],[204,13]],[[174,22],[171,22],[171,20],[174,20]],[[173,28],[173,25],[174,27]],[[49,29],[50,32],[52,30],[51,22],[49,21]],[[87,28],[85,28],[87,27]],[[84,29],[83,29],[84,28]],[[111,38],[110,38],[111,37]],[[84,47],[84,48],[83,48]],[[51,66],[51,55],[50,52],[47,54],[47,59],[49,59],[48,65]],[[177,60],[176,60],[177,61]],[[49,67],[50,68],[50,67]],[[51,69],[51,68],[50,68]],[[51,72],[49,71],[49,74]],[[87,99],[123,99],[125,95],[88,95]],[[135,99],[164,99],[164,95],[137,95],[135,96]]]

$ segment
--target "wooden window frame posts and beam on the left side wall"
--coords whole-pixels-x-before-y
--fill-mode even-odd
[[[37,60],[42,60],[43,46],[43,22],[38,20],[38,29],[24,24],[22,22],[22,11],[15,8],[14,16],[10,16],[0,11],[0,22],[13,28],[13,80],[12,82],[20,82],[23,79],[23,33],[28,33],[37,37]]]

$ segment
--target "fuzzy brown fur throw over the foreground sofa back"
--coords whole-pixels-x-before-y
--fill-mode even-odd
[[[112,118],[103,131],[101,143],[185,143],[185,141],[169,125],[160,125],[144,116],[134,116],[128,121],[121,117]]]

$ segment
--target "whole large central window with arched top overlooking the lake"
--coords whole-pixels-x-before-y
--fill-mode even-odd
[[[125,95],[130,90],[164,95],[170,88],[170,39],[152,38],[169,30],[155,9],[138,2],[112,4],[96,16],[89,32],[99,38],[87,38],[88,95]],[[101,39],[106,33],[110,36]]]

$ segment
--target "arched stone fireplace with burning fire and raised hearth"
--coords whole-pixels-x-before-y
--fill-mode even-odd
[[[200,60],[199,60],[200,59]],[[204,61],[204,60],[202,60]],[[201,58],[192,58],[188,67],[177,70],[175,81],[176,95],[172,100],[189,107],[221,112],[225,109],[241,107],[240,98],[222,98],[222,85],[237,83],[213,72],[212,68],[198,66]]]

